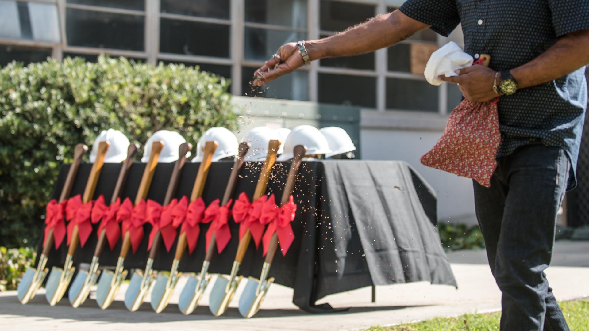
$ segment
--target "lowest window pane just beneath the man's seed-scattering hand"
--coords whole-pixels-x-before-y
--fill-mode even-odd
[[[250,84],[256,69],[249,67],[241,69],[241,94],[248,97],[309,100],[309,72],[297,70],[263,87],[256,87]]]

